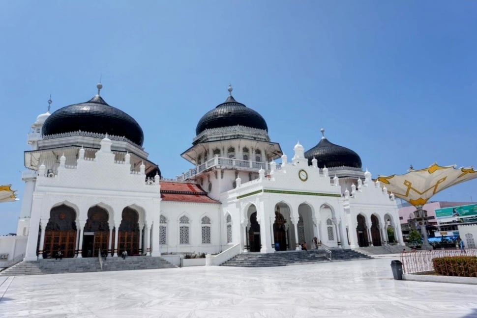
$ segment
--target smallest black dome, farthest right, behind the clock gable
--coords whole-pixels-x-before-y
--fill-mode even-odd
[[[346,147],[335,145],[323,137],[320,142],[310,150],[305,152],[305,158],[308,164],[312,164],[311,160],[317,159],[318,167],[354,167],[361,168],[361,158],[358,154]]]

